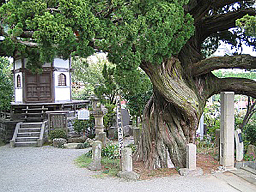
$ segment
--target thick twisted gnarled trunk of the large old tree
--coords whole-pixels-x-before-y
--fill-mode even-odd
[[[206,101],[198,95],[203,84],[195,85],[197,93],[189,88],[175,58],[159,66],[145,64],[143,70],[154,84],[154,94],[143,114],[141,142],[134,157],[150,169],[168,167],[168,158],[176,167],[184,167],[186,143],[195,142]]]

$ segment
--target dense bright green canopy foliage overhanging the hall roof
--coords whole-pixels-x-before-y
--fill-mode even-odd
[[[0,8],[1,25],[8,26],[0,46],[18,50],[19,42],[12,38],[35,31],[32,39],[20,40],[38,43],[41,61],[68,58],[72,52],[85,58],[93,54],[94,44],[121,68],[134,69],[141,61],[159,64],[177,54],[194,33],[193,18],[183,9],[187,3],[10,0]]]

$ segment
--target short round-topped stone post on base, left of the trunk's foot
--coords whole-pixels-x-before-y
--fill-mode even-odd
[[[124,148],[122,150],[122,171],[118,173],[118,177],[125,180],[137,180],[140,175],[132,172],[132,149]]]

